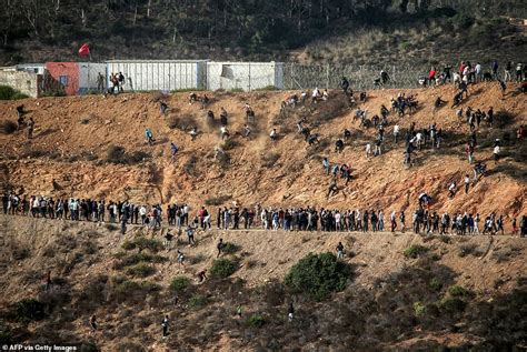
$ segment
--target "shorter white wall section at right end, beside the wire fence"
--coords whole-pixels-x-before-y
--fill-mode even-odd
[[[207,62],[207,89],[284,88],[281,62]]]

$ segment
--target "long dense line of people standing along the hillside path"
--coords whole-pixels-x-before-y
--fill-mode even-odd
[[[390,230],[405,232],[412,229],[415,233],[451,233],[456,234],[505,234],[505,218],[490,213],[481,218],[479,213],[443,213],[428,210],[430,198],[427,194],[419,197],[419,207],[406,219],[405,211],[392,211],[387,218],[389,227],[385,225],[382,210],[337,210],[307,208],[218,208],[211,213],[206,207],[192,211],[186,203],[169,204],[165,212],[160,204],[136,204],[129,201],[106,202],[91,199],[52,199],[46,197],[20,197],[4,193],[2,209],[4,214],[27,215],[56,220],[92,221],[137,224],[148,228],[161,228],[163,223],[169,228],[186,228],[189,242],[193,241],[193,231],[197,229],[211,230],[216,222],[218,230],[253,229],[284,231],[324,231],[324,232],[382,232]],[[163,222],[165,219],[165,222]],[[411,228],[410,228],[411,224]],[[510,220],[510,231],[507,233],[527,234],[527,219],[521,217],[519,222]]]

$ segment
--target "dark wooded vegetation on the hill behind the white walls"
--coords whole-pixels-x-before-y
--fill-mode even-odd
[[[93,60],[285,60],[307,47],[298,59],[368,62],[372,49],[376,60],[411,51],[425,58],[426,46],[438,41],[428,49],[441,56],[461,39],[470,54],[493,43],[489,54],[520,58],[521,28],[497,17],[525,12],[521,0],[8,0],[0,61],[74,59],[89,42]]]

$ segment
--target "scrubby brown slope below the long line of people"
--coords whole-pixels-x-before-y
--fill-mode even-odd
[[[198,233],[193,247],[178,240],[156,251],[153,272],[141,279],[129,271],[132,266],[122,266],[138,255],[126,243],[145,235],[141,228],[122,237],[112,224],[4,215],[0,222],[0,338],[17,342],[74,341],[86,351],[400,351],[485,349],[526,338],[525,321],[517,321],[527,299],[524,239],[213,230]],[[236,260],[239,269],[229,280],[209,278],[199,284],[196,274],[210,269],[220,237],[238,247],[222,258]],[[319,303],[284,291],[279,282],[300,258],[335,251],[338,241],[346,248],[345,262],[354,268],[344,292]],[[412,245],[429,252],[405,257]],[[187,257],[185,266],[177,263],[176,248]],[[43,285],[48,270],[53,275],[51,291]],[[181,276],[190,286],[178,293],[176,303],[169,286]],[[469,306],[454,305],[434,318],[431,308],[449,302],[453,286],[470,292]],[[46,304],[44,320],[24,323],[10,318],[12,304],[28,298]],[[285,311],[291,299],[298,321],[288,324]],[[422,316],[415,312],[419,304],[426,305]],[[242,319],[236,318],[237,306],[242,306]],[[160,339],[165,313],[172,323],[167,340]],[[88,325],[92,314],[100,326],[95,334]],[[264,328],[245,322],[255,314],[262,316]]]

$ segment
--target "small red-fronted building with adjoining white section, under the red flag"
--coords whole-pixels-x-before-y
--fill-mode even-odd
[[[46,62],[46,70],[44,89],[63,89],[67,95],[95,91],[99,72],[107,76],[106,63],[98,62]]]

